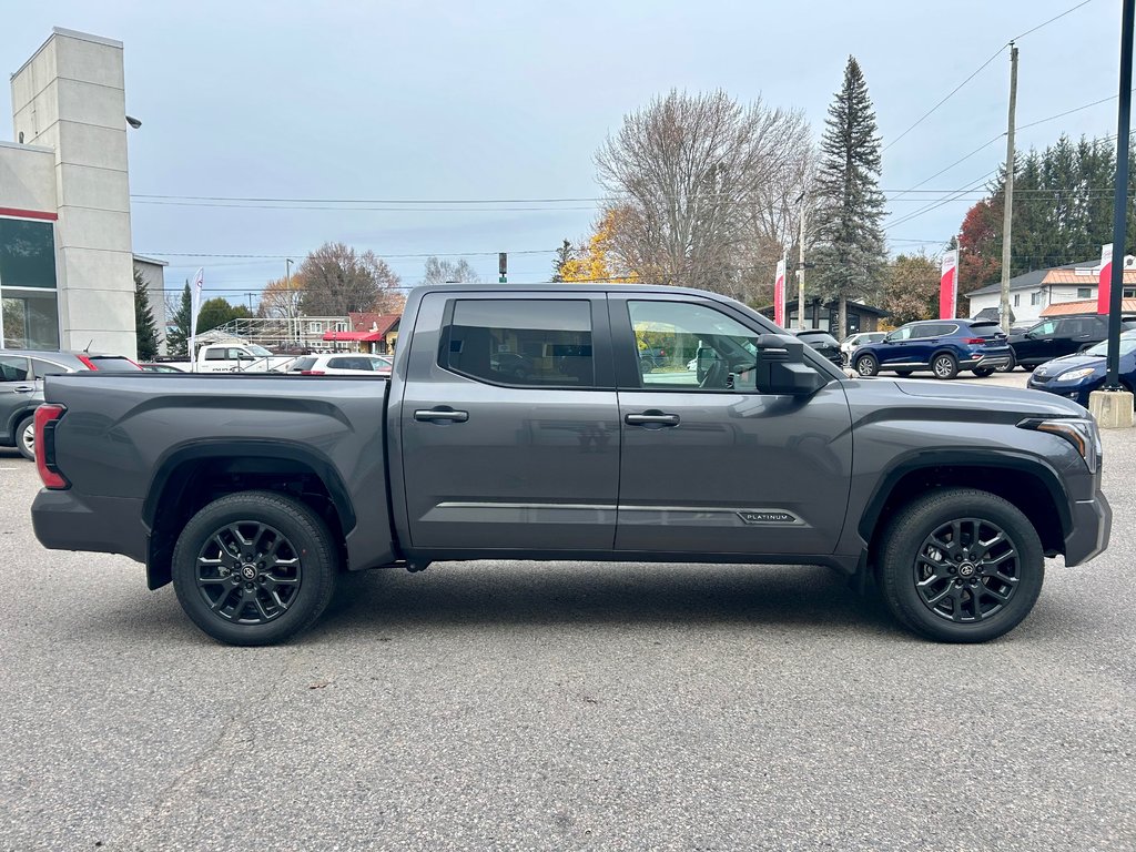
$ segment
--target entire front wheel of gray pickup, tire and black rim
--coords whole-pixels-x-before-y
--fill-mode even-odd
[[[1001,541],[980,545],[995,538]],[[985,491],[947,488],[919,498],[888,525],[878,553],[887,609],[938,642],[987,642],[1009,633],[1029,615],[1045,579],[1034,525]]]

